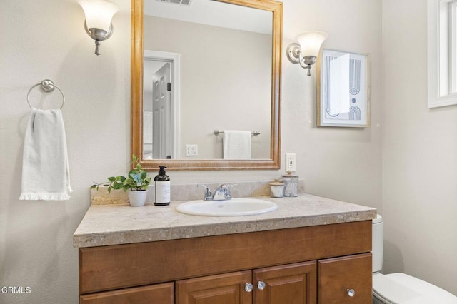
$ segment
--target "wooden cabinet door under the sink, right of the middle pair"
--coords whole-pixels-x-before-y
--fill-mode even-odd
[[[316,268],[311,261],[254,270],[253,303],[316,303]]]

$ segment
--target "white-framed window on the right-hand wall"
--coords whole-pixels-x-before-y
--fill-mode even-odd
[[[457,0],[428,0],[428,108],[457,104]]]

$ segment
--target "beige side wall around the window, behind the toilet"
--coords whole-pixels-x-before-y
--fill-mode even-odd
[[[384,272],[457,295],[457,106],[427,108],[426,0],[383,1]]]

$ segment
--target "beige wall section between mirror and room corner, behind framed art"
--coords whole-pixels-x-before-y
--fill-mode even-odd
[[[307,191],[381,209],[381,1],[284,4],[283,50],[318,29],[326,49],[371,55],[371,128],[317,128],[316,78],[283,56],[282,151],[297,153]]]

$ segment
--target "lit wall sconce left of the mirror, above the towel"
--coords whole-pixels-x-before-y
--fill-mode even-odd
[[[119,7],[108,0],[80,0],[79,5],[86,15],[86,33],[95,40],[95,54],[100,55],[100,41],[109,39],[113,34],[111,19],[119,11]]]

